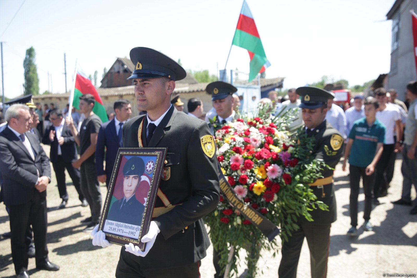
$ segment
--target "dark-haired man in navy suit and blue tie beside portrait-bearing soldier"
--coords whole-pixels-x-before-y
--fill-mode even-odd
[[[118,149],[123,147],[123,125],[126,124],[132,114],[131,103],[127,99],[118,99],[113,105],[116,116],[113,120],[101,125],[95,147],[95,166],[97,179],[106,182],[109,187],[111,173]],[[104,154],[106,154],[106,167],[103,169]]]

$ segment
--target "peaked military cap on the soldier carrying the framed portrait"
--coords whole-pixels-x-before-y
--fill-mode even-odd
[[[130,52],[135,65],[128,79],[167,77],[173,81],[184,79],[187,73],[176,61],[165,54],[147,47],[135,47]]]

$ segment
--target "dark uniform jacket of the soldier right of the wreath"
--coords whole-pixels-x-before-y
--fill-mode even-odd
[[[334,146],[334,137],[332,135],[337,134],[342,138],[342,135],[327,121],[323,121],[319,126],[309,132],[308,136],[316,137],[316,146],[314,147],[314,155],[316,159],[322,159],[326,162],[327,165],[334,168],[337,163],[339,163],[340,158],[343,155],[344,142],[340,142],[340,147]],[[333,142],[333,143],[332,143]],[[324,169],[322,172],[323,177],[329,177],[333,175],[333,170]],[[316,224],[331,224],[336,221],[336,197],[334,195],[333,183],[323,185],[323,188],[318,188],[317,186],[311,186],[311,189],[314,192],[314,195],[317,196],[318,201],[324,202],[329,206],[329,211],[324,211],[316,209],[310,212],[313,217],[314,223]],[[325,197],[322,197],[324,192]],[[304,217],[301,218],[303,221]]]

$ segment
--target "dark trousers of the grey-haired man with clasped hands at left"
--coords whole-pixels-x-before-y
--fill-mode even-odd
[[[37,266],[43,266],[48,261],[48,248],[46,247],[46,198],[36,191],[30,202],[9,207],[10,231],[12,237],[12,258],[16,274],[28,270],[28,247],[25,235],[28,225],[33,227],[33,238],[36,246],[35,261]]]

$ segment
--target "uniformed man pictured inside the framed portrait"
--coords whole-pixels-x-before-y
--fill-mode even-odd
[[[120,200],[113,203],[107,215],[108,220],[140,226],[145,206],[136,200],[136,189],[145,171],[145,163],[140,157],[131,157],[123,166],[123,193]]]

